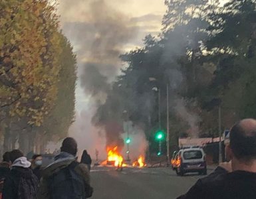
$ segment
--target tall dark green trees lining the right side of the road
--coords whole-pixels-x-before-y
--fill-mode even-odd
[[[120,56],[122,70],[108,99],[94,116],[96,125],[122,123],[122,111],[140,125],[150,150],[154,133],[166,130],[166,85],[170,86],[171,149],[178,137],[217,137],[241,118],[256,117],[256,1],[166,0],[159,36]],[[151,80],[151,81],[150,81]],[[154,81],[152,81],[154,80]]]

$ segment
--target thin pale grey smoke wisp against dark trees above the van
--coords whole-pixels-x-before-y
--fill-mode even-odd
[[[193,47],[191,46],[191,39],[188,37],[188,27],[180,25],[173,31],[166,34],[166,41],[164,46],[164,52],[162,55],[162,65],[166,68],[166,80],[170,84],[170,96],[172,104],[174,106],[175,114],[183,121],[186,121],[190,126],[187,133],[191,137],[198,137],[199,134],[199,121],[201,121],[199,115],[190,111],[190,101],[186,101],[180,96],[183,90],[187,89],[186,77],[182,72],[181,58],[188,57],[188,49],[196,48],[198,43]],[[192,40],[196,39],[193,38]]]

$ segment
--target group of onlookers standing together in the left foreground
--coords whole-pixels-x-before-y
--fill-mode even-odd
[[[53,163],[41,168],[42,155],[31,160],[17,149],[6,152],[0,163],[0,199],[85,199],[92,196],[90,155],[85,151],[77,161],[77,143],[64,139]]]

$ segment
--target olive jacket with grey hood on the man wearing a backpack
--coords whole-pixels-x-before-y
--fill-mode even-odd
[[[62,168],[70,165],[72,162],[76,161],[76,158],[69,153],[61,152],[57,157],[55,157],[55,161],[47,166],[43,170],[43,176],[40,183],[40,196],[41,199],[48,199],[49,196],[49,188],[47,184],[47,179],[59,172]],[[88,172],[88,168],[84,164],[79,164],[74,168],[75,172],[80,175],[86,184],[90,184],[90,174]]]

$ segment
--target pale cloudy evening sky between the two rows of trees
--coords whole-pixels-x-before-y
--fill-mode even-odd
[[[78,62],[76,119],[69,133],[78,141],[79,153],[86,148],[94,154],[98,149],[100,158],[104,159],[104,136],[90,124],[96,105],[88,92],[91,88],[84,86],[84,76],[90,78],[84,74],[84,67],[88,62],[98,62],[94,58],[96,54],[97,59],[102,59],[99,72],[108,77],[108,82],[114,80],[124,67],[118,55],[142,46],[147,34],[160,33],[166,11],[164,0],[60,0],[58,11],[61,29],[74,47]],[[98,41],[99,37],[102,40]]]

